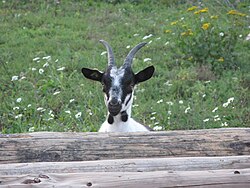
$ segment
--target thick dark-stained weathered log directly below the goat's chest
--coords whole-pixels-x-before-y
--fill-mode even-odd
[[[0,163],[249,154],[249,128],[0,135]]]

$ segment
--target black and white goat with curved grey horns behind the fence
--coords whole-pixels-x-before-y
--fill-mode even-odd
[[[100,42],[106,47],[108,53],[108,68],[105,72],[82,68],[83,75],[91,80],[99,81],[105,93],[105,104],[108,108],[108,116],[102,124],[99,132],[139,132],[150,131],[131,118],[133,92],[136,84],[150,79],[154,73],[154,67],[149,66],[134,74],[131,68],[134,55],[146,43],[136,45],[127,55],[124,64],[117,68],[114,54],[110,45]]]

